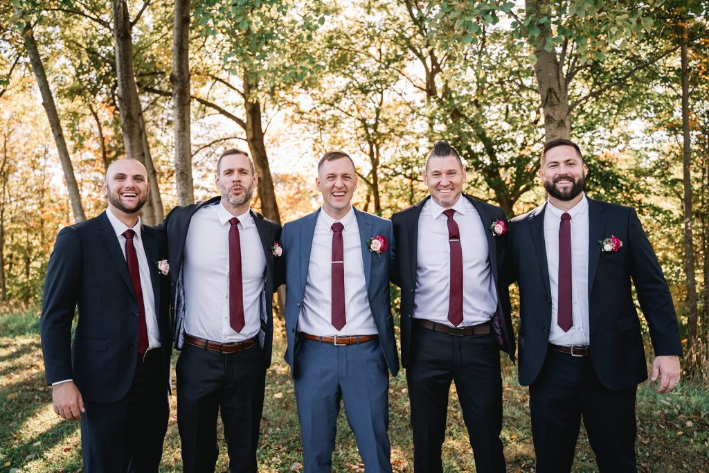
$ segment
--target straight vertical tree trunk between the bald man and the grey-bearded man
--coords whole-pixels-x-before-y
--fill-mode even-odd
[[[175,121],[175,184],[177,204],[194,204],[190,140],[189,84],[190,0],[176,0],[172,29],[172,109]]]

